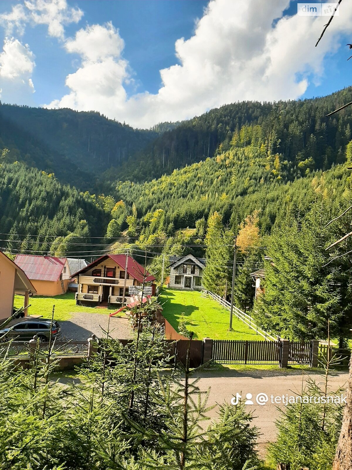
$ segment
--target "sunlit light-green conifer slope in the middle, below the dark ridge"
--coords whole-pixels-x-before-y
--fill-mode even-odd
[[[278,154],[267,155],[252,145],[231,147],[217,157],[174,170],[158,180],[118,183],[115,198],[130,208],[134,204],[142,232],[148,226],[148,214],[156,211],[163,220],[160,229],[170,235],[179,228],[195,227],[198,219],[207,220],[209,214],[218,211],[223,223],[236,233],[245,217],[258,210],[264,235],[275,221],[285,217],[288,207],[302,213],[309,208],[315,197],[312,180],[317,186],[324,174],[330,184],[350,174],[345,165],[324,173],[305,169],[302,177],[292,177],[292,173]],[[334,184],[339,191],[339,183]]]

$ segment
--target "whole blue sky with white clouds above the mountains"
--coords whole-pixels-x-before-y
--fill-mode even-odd
[[[148,127],[227,102],[321,96],[351,84],[348,0],[316,49],[326,19],[297,19],[296,1],[214,0],[207,9],[203,0],[44,0],[44,10],[30,1],[0,2],[4,102],[94,109]],[[90,39],[101,47],[94,58]]]

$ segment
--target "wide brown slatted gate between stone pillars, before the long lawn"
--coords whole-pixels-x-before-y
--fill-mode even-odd
[[[215,339],[212,358],[220,364],[278,364],[281,341]]]

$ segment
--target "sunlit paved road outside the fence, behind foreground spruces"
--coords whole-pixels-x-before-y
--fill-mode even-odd
[[[305,371],[305,379],[309,376],[311,379],[316,380],[317,383],[321,382],[322,377],[316,372]],[[259,370],[259,369],[242,369],[242,370],[228,370],[224,372],[202,372],[199,374],[199,388],[207,390],[211,387],[209,396],[209,405],[216,403],[230,403],[236,392],[239,392],[242,397],[246,393],[252,393],[253,401],[258,393],[266,393],[270,395],[297,395],[302,387],[302,371],[290,371],[286,374],[278,370]],[[334,373],[330,378],[330,391],[335,392],[339,387],[343,386],[348,379],[347,372]],[[270,401],[270,398],[269,398]],[[258,439],[260,454],[265,454],[265,447],[268,442],[275,441],[276,428],[275,420],[279,417],[280,412],[277,406],[284,408],[284,405],[275,405],[267,403],[266,405],[259,406],[247,405],[253,411],[254,416],[253,425],[260,428],[262,433]],[[216,416],[216,408],[210,412],[213,417]]]

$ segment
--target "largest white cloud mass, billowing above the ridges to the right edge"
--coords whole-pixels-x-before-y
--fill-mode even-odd
[[[211,0],[190,39],[175,44],[177,62],[160,71],[157,94],[128,96],[123,40],[111,23],[88,26],[67,40],[81,55],[66,78],[69,93],[48,107],[97,110],[138,127],[199,115],[242,100],[296,99],[323,73],[323,59],[351,31],[352,2],[329,26],[319,47],[324,17],[283,17],[289,0]],[[278,19],[273,23],[275,19]],[[106,47],[104,47],[106,45]],[[333,46],[332,46],[333,45]]]

